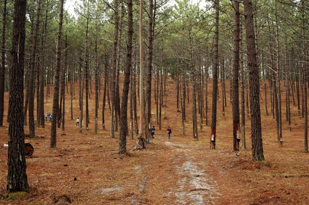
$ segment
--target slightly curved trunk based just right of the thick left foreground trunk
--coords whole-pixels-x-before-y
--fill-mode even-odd
[[[31,47],[31,58],[30,58],[30,76],[29,76],[29,99],[28,99],[28,107],[29,107],[29,136],[35,136],[35,126],[34,126],[34,67],[35,67],[35,60],[36,60],[36,43],[37,43],[37,35],[39,29],[39,18],[40,18],[40,6],[41,1],[38,0],[36,6],[36,20],[34,24],[34,31],[32,36],[32,47]]]

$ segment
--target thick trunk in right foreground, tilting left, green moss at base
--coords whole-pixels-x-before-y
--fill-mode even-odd
[[[251,142],[252,142],[252,159],[264,160],[262,128],[260,115],[260,96],[259,96],[259,70],[256,60],[256,45],[253,28],[253,12],[251,0],[244,0],[245,23],[246,23],[246,40],[249,70],[250,86],[250,114],[251,114]]]

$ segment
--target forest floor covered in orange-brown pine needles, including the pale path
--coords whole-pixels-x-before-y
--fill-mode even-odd
[[[211,120],[211,82],[210,79],[208,123]],[[81,134],[78,132],[79,128],[75,126],[79,117],[76,82],[74,119],[70,119],[70,94],[66,93],[66,127],[65,131],[57,129],[57,148],[49,148],[49,122],[45,122],[45,128],[36,128],[35,138],[26,137],[25,141],[34,147],[32,157],[26,158],[30,189],[26,195],[12,200],[4,199],[7,194],[7,148],[3,144],[8,142],[8,124],[0,128],[0,199],[3,197],[0,204],[309,204],[309,154],[303,152],[303,118],[298,115],[297,106],[291,103],[290,132],[285,120],[285,89],[283,84],[281,86],[283,147],[279,147],[277,142],[270,103],[269,116],[265,114],[265,95],[261,90],[266,161],[256,163],[251,156],[250,119],[246,118],[247,149],[232,151],[228,86],[225,116],[222,116],[219,87],[216,150],[209,149],[210,126],[205,122],[203,130],[199,130],[199,141],[192,137],[191,90],[190,103],[186,108],[186,135],[182,135],[181,113],[176,111],[176,85],[170,79],[167,83],[167,107],[163,107],[162,111],[162,118],[165,116],[162,130],[156,122],[155,103],[152,104],[152,122],[156,126],[154,144],[149,144],[144,150],[130,151],[131,156],[124,156],[118,154],[119,132],[114,139],[109,136],[107,102],[107,130],[102,130],[102,97],[99,101],[98,134],[94,134],[94,88],[89,100],[89,130],[83,129]],[[101,89],[103,94],[103,86]],[[45,113],[51,112],[52,91],[45,102]],[[269,90],[267,98],[269,101]],[[8,99],[8,93],[5,93],[5,99]],[[6,100],[5,119],[7,105]],[[167,126],[172,129],[170,140],[167,140]],[[25,126],[25,133],[28,132],[28,126]],[[128,150],[133,149],[135,143],[136,136],[133,140],[127,137]]]

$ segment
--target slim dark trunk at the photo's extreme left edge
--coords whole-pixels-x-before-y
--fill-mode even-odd
[[[5,81],[5,29],[6,29],[6,3],[3,5],[2,41],[1,41],[1,69],[0,69],[0,127],[3,126],[4,114],[4,81]]]

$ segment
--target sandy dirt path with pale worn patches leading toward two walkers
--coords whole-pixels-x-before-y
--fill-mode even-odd
[[[176,204],[215,204],[219,197],[218,184],[214,180],[213,168],[209,159],[197,160],[196,150],[189,145],[181,144],[178,140],[166,140],[158,136],[171,149],[171,160],[175,169],[176,187],[170,187],[169,194],[176,196]],[[172,177],[172,176],[171,176]]]

